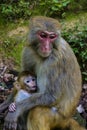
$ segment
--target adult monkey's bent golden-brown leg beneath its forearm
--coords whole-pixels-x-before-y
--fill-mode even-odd
[[[27,130],[52,130],[61,128],[65,130],[68,120],[51,108],[36,107],[29,111],[27,118]]]

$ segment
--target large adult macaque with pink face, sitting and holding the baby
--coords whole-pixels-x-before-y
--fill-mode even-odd
[[[37,77],[38,93],[16,103],[16,111],[5,118],[4,129],[16,130],[18,117],[29,111],[28,130],[85,130],[71,118],[81,94],[81,72],[72,49],[61,37],[57,20],[43,16],[30,20],[22,56],[22,71],[28,70]],[[53,113],[50,107],[58,111]]]

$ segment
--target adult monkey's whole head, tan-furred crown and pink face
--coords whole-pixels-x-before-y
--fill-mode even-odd
[[[61,26],[57,20],[36,16],[30,20],[29,42],[38,55],[48,57],[58,44]]]

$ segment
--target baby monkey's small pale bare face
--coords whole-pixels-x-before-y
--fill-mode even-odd
[[[29,92],[35,92],[37,89],[36,78],[31,75],[24,78],[24,84]]]

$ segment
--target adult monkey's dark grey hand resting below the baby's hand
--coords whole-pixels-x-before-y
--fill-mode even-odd
[[[16,112],[8,112],[7,116],[5,117],[3,130],[16,130],[17,119]]]

